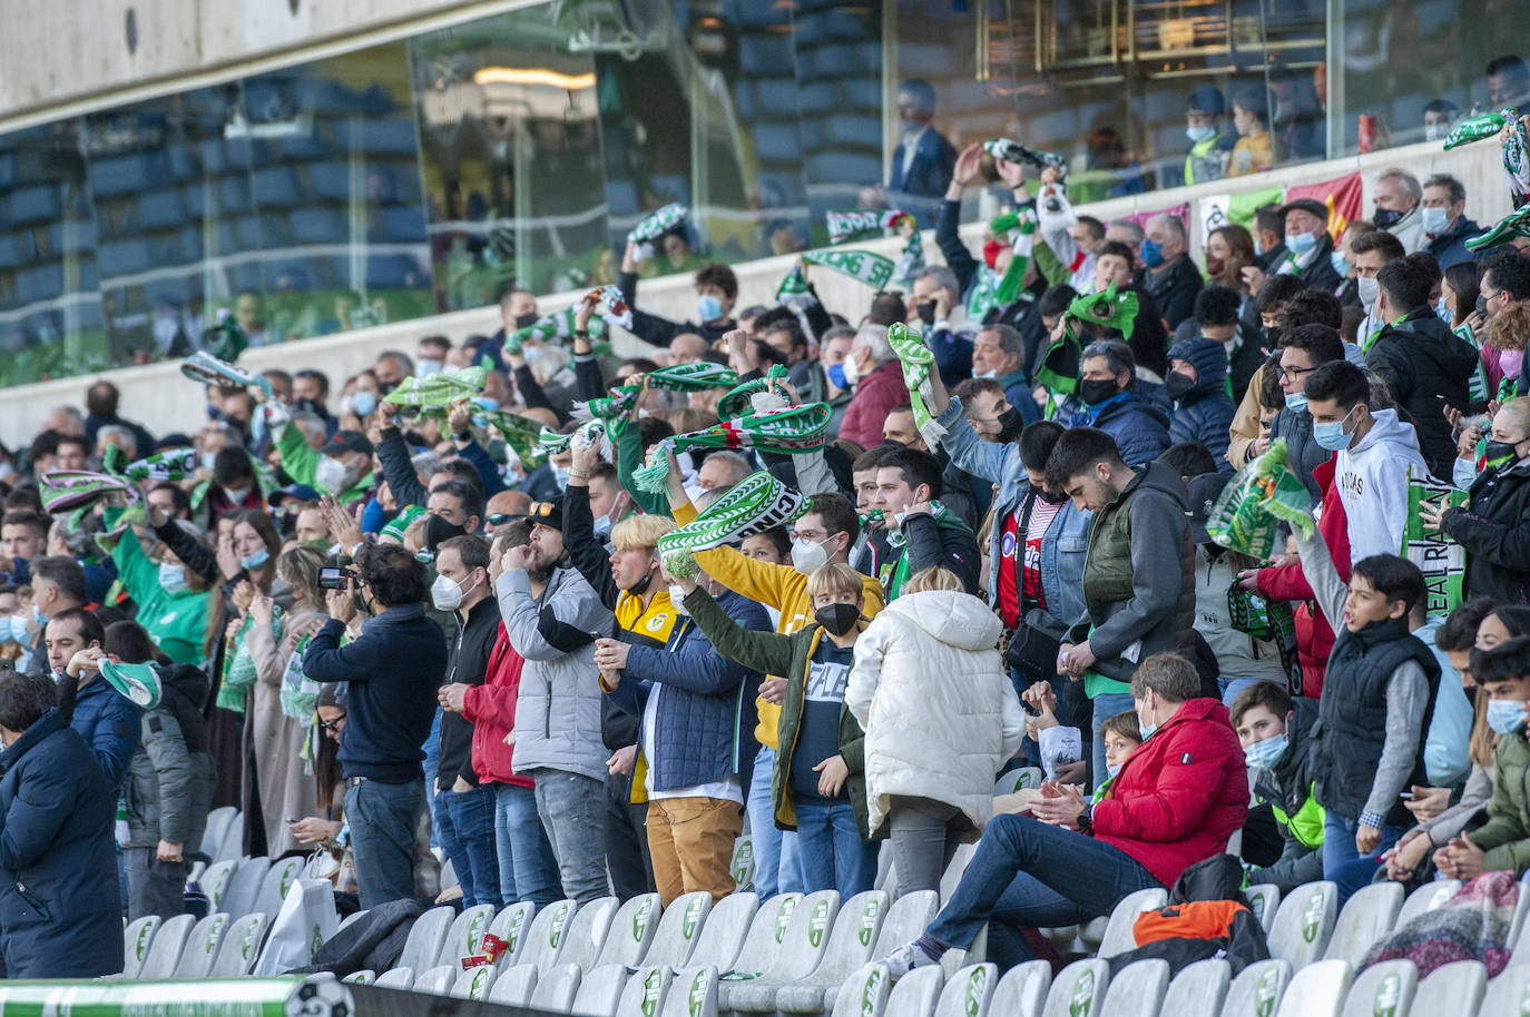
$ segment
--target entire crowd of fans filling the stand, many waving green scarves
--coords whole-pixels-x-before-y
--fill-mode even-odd
[[[352,910],[438,858],[467,905],[722,898],[745,817],[762,898],[978,841],[895,973],[985,922],[1028,959],[1236,840],[1285,889],[1524,873],[1524,239],[1389,170],[1372,220],[1296,199],[1196,262],[1034,170],[959,153],[944,265],[860,306],[708,263],[672,321],[629,248],[615,294],[352,378],[207,359],[176,433],[107,381],[54,411],[0,485],[8,971],[119,971],[223,804]],[[1273,462],[1300,518],[1250,554]]]

